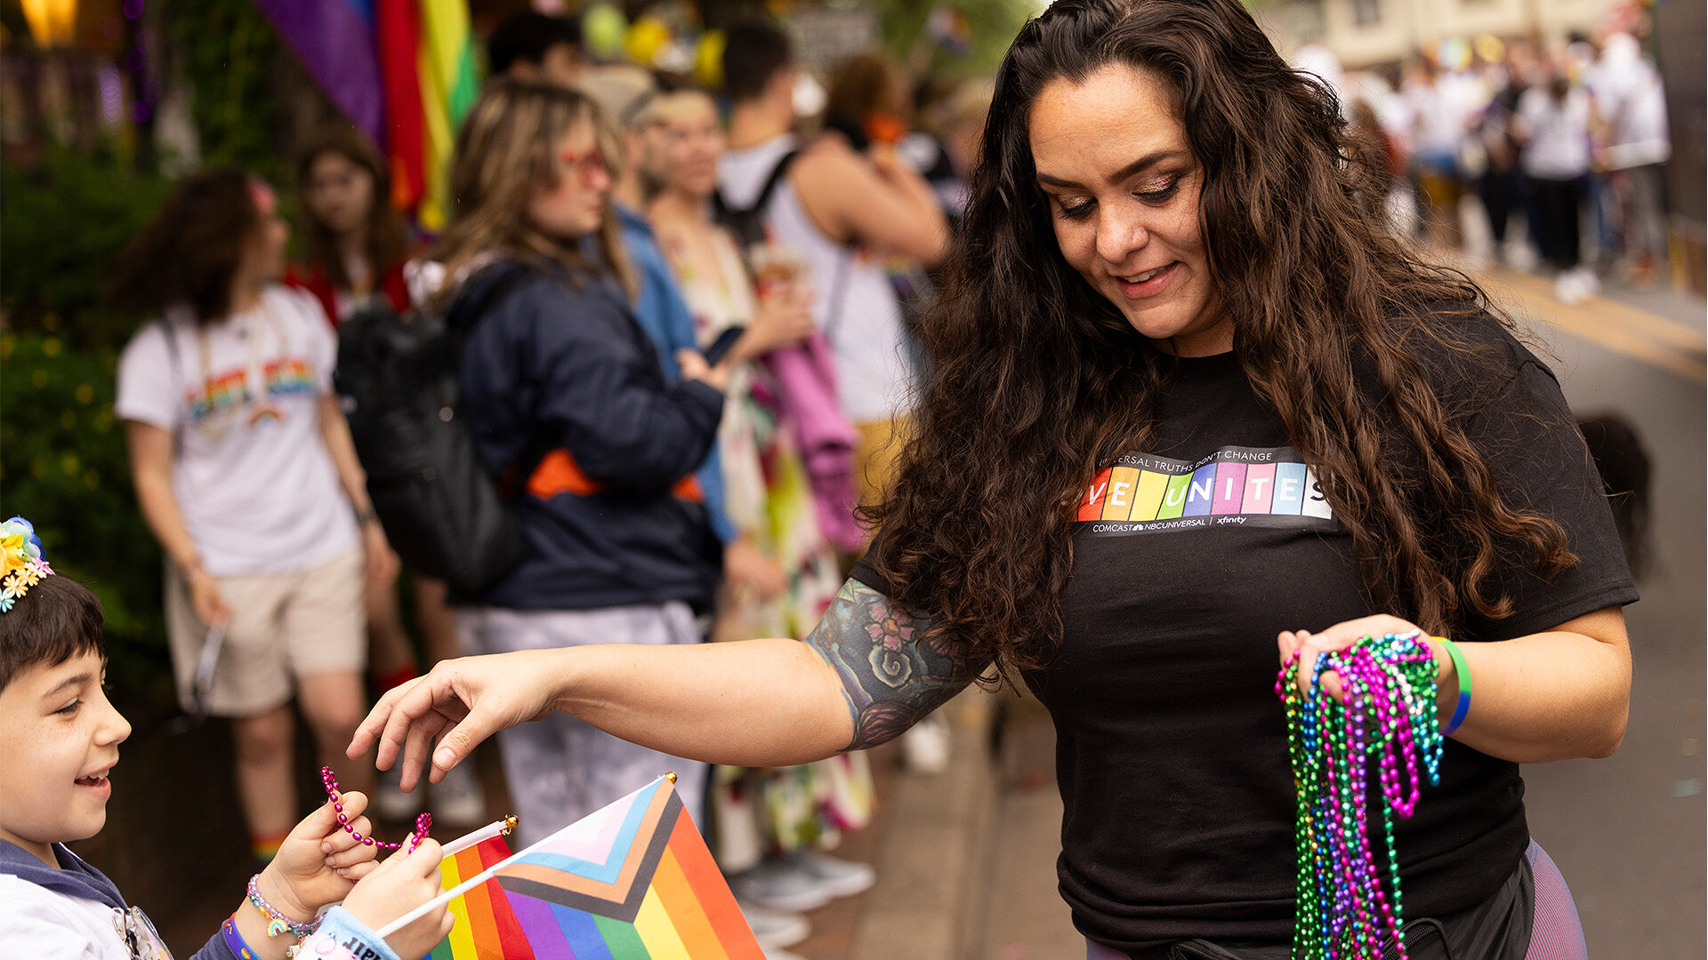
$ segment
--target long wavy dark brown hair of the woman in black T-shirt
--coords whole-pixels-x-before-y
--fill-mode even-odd
[[[945,294],[921,326],[914,439],[893,495],[868,511],[892,600],[960,639],[968,663],[1038,666],[1061,639],[1073,507],[1153,436],[1175,360],[1062,260],[1028,138],[1049,84],[1108,65],[1173,92],[1235,354],[1325,477],[1372,608],[1443,632],[1467,610],[1510,613],[1500,564],[1573,564],[1556,523],[1501,499],[1464,405],[1431,389],[1442,357],[1498,389],[1510,360],[1477,343],[1501,321],[1476,284],[1389,234],[1334,94],[1288,68],[1238,0],[1057,0],[997,73]]]

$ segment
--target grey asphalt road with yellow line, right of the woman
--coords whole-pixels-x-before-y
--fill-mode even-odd
[[[1699,958],[1703,301],[1614,290],[1612,302],[1563,307],[1537,290],[1537,280],[1501,278],[1520,292],[1532,330],[1559,357],[1554,369],[1573,412],[1624,417],[1653,466],[1655,571],[1626,610],[1633,683],[1624,745],[1606,760],[1527,767],[1530,832],[1571,885],[1590,957]]]

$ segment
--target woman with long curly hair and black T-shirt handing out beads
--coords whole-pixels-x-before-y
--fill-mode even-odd
[[[994,666],[1056,723],[1090,955],[1269,960],[1296,866],[1278,663],[1308,678],[1421,629],[1464,647],[1465,676],[1428,641],[1442,716],[1472,676],[1476,699],[1397,823],[1406,946],[1582,957],[1518,764],[1617,748],[1636,593],[1553,374],[1389,236],[1334,94],[1237,0],[1057,0],[1015,39],[980,149],[917,430],[806,644],[441,664],[352,752],[401,753],[408,782],[429,738],[439,776],[560,709],[799,762]]]

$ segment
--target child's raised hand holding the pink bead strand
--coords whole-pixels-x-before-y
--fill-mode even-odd
[[[372,825],[362,817],[367,796],[345,793],[342,803],[350,827],[364,837],[371,835]],[[261,871],[261,895],[292,919],[313,919],[326,904],[343,900],[357,880],[379,866],[374,863],[377,852],[377,847],[357,842],[340,827],[338,811],[326,801],[278,846],[278,856]]]

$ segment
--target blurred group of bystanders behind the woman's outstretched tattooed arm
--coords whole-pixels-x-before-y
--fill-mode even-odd
[[[338,125],[299,157],[295,263],[272,186],[210,171],[116,273],[114,301],[154,318],[121,357],[118,415],[167,559],[178,688],[232,721],[260,863],[297,818],[297,709],[377,815],[420,810],[396,767],[376,781],[342,755],[364,678],[379,694],[458,654],[804,639],[907,436],[907,306],[948,251],[980,104],[915,111],[905,73],[863,55],[803,137],[791,41],[757,22],[729,31],[719,91],[596,65],[572,20],[535,12],[492,32],[488,63],[441,236],[410,231],[379,154]],[[531,195],[541,183],[557,186]],[[511,477],[528,548],[478,591],[422,571],[400,589],[336,398],[336,330],[458,301],[480,304],[456,319],[458,417]],[[707,366],[726,331],[733,348]],[[941,770],[946,748],[934,719],[904,757]],[[570,716],[506,731],[499,753],[524,844],[676,770],[774,957],[806,936],[803,910],[873,883],[825,852],[871,815],[863,753],[709,767]],[[471,767],[432,784],[430,808],[483,822]]]

